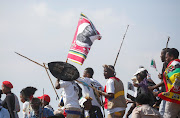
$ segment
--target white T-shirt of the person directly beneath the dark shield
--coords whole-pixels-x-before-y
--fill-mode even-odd
[[[80,108],[78,101],[79,88],[74,81],[60,81],[60,87],[64,89],[65,108]]]

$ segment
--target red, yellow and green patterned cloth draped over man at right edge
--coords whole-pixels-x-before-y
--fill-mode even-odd
[[[158,96],[166,101],[180,104],[180,60],[171,61],[163,76],[166,92]]]

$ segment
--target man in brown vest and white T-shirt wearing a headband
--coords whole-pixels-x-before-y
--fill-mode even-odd
[[[124,97],[124,85],[115,77],[115,69],[112,65],[104,65],[104,77],[108,79],[103,91],[98,92],[105,96],[104,107],[107,109],[108,118],[123,118],[127,107]]]

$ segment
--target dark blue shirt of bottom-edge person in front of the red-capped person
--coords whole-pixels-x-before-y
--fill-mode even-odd
[[[32,116],[30,118],[41,118],[41,115],[42,115],[42,112],[43,112],[43,117],[49,117],[49,116],[54,116],[53,112],[47,108],[44,108],[42,110],[42,108],[40,107],[39,108],[39,114],[38,116],[36,116],[33,112]]]

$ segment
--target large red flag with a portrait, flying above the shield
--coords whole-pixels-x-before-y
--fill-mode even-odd
[[[67,58],[82,65],[87,58],[94,40],[100,39],[101,36],[93,23],[81,13]]]

